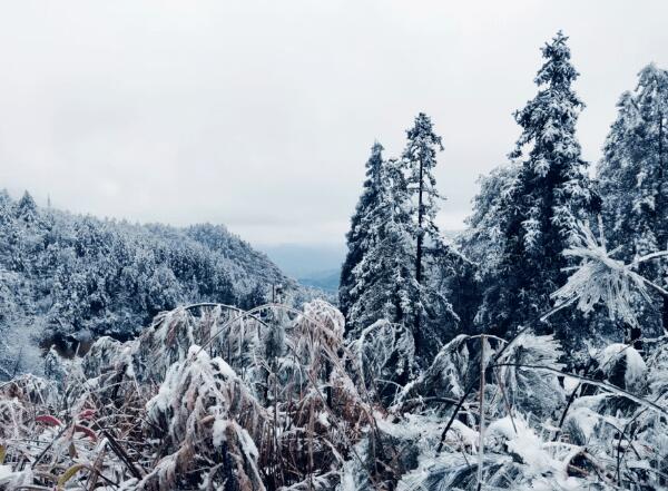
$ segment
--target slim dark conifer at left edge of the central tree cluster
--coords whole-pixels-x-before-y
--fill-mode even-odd
[[[346,234],[347,254],[341,268],[341,282],[338,286],[338,308],[348,318],[348,312],[354,298],[351,289],[355,286],[353,269],[365,254],[367,244],[367,229],[363,226],[370,210],[377,207],[382,192],[381,173],[383,167],[383,146],[375,141],[371,147],[371,156],[366,160],[366,180],[355,213],[351,218],[351,229]]]

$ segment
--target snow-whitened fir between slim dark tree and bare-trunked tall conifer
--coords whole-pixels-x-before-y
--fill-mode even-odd
[[[360,227],[365,230],[360,244],[364,255],[352,272],[352,336],[383,318],[412,327],[422,305],[413,271],[411,204],[400,160],[381,167],[377,199],[360,217]]]

